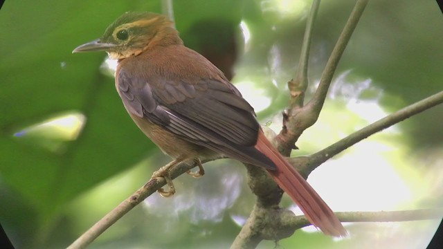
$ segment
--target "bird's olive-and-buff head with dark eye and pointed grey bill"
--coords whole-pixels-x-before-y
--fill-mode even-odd
[[[73,53],[106,51],[111,59],[136,56],[153,46],[183,44],[172,21],[152,12],[126,12],[109,25],[100,39],[78,46]]]

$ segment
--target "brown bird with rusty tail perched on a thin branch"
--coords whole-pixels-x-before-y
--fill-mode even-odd
[[[296,169],[266,138],[253,107],[219,68],[184,46],[174,23],[153,12],[125,12],[99,39],[73,53],[106,51],[118,61],[116,90],[136,125],[171,163],[154,172],[174,194],[169,172],[179,163],[226,156],[266,169],[300,207],[309,222],[324,234],[345,237],[347,232]]]

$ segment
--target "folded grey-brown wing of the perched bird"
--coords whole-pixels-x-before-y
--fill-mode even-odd
[[[254,148],[260,125],[234,86],[213,79],[194,82],[118,73],[126,109],[198,145],[269,169],[273,163]]]

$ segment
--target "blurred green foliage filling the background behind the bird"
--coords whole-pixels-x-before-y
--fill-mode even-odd
[[[343,0],[320,6],[308,97],[352,5]],[[276,129],[275,115],[280,118],[287,104],[284,89],[298,63],[309,8],[309,1],[174,1],[185,44],[233,75],[245,98],[256,108],[262,106],[257,108],[260,120],[274,120]],[[101,73],[105,53],[71,54],[76,46],[100,37],[128,10],[161,12],[161,1],[6,1],[0,11],[0,222],[17,248],[67,246],[168,160],[153,156],[157,149],[127,116],[114,79]],[[250,34],[246,44],[240,22]],[[321,149],[374,121],[373,113],[365,113],[374,109],[352,109],[349,103],[372,101],[379,112],[389,113],[441,91],[442,26],[433,1],[371,1],[336,72],[325,113],[317,128],[302,136],[296,154]],[[33,136],[26,129],[66,113],[84,116],[78,137],[52,136],[56,131],[51,127]],[[409,177],[414,170],[441,166],[442,123],[443,109],[436,107],[397,126],[396,135],[381,137],[385,142],[395,138],[390,146],[401,149],[390,151],[399,172]],[[411,152],[417,156],[408,157]],[[406,160],[420,166],[400,170]],[[219,164],[224,166],[215,167]],[[226,248],[254,202],[242,177],[235,178],[243,174],[237,163],[224,161],[208,166],[207,176],[199,181],[182,176],[173,201],[152,196],[145,208],[130,212],[93,248]],[[435,180],[439,174],[420,176]],[[410,181],[422,181],[415,177]],[[437,189],[423,185],[430,193]],[[442,203],[441,193],[439,200]],[[219,210],[205,212],[217,205]],[[363,236],[351,230],[357,239]],[[414,232],[407,231],[403,234]],[[324,248],[331,241],[298,231],[281,243],[285,248]],[[333,243],[331,248],[348,243]],[[271,246],[273,242],[261,244]]]

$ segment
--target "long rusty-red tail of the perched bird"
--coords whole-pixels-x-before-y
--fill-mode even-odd
[[[277,167],[267,169],[274,181],[291,196],[291,199],[300,207],[307,219],[317,228],[334,237],[345,237],[347,232],[328,205],[317,192],[307,183],[305,178],[288,163],[275,149],[264,133],[260,131],[255,148],[266,155]]]

